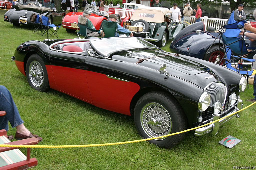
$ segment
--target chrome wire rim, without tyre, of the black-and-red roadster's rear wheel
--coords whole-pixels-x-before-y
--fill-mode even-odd
[[[40,87],[44,82],[44,71],[38,61],[32,61],[29,65],[29,79],[31,83]]]

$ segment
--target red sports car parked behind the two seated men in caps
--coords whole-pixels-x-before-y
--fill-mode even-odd
[[[107,20],[109,18],[109,14],[113,14],[113,12],[91,12],[90,21],[96,30],[101,28],[101,22],[103,20]],[[61,25],[63,28],[66,28],[67,32],[75,32],[77,30],[78,15],[83,15],[83,12],[69,12],[62,19]]]

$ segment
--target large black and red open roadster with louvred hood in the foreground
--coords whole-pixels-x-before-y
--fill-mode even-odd
[[[238,111],[246,79],[223,66],[169,53],[135,37],[28,41],[12,57],[31,87],[133,115],[143,138],[197,127]],[[217,134],[215,124],[195,135]],[[173,147],[184,133],[150,140]]]

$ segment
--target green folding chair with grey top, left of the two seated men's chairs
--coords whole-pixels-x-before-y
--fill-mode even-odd
[[[79,28],[79,30],[78,30]],[[90,30],[92,32],[98,32],[100,34],[100,30],[94,30],[87,27],[87,18],[84,16],[79,15],[78,21],[77,21],[77,37],[80,38],[79,35],[81,35],[82,38],[92,37],[87,35],[87,30]]]

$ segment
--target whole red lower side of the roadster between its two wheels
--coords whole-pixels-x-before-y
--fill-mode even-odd
[[[94,106],[131,115],[129,106],[133,96],[140,89],[138,84],[110,79],[105,74],[92,71],[54,65],[45,66],[50,88]],[[66,81],[65,77],[73,80]]]

